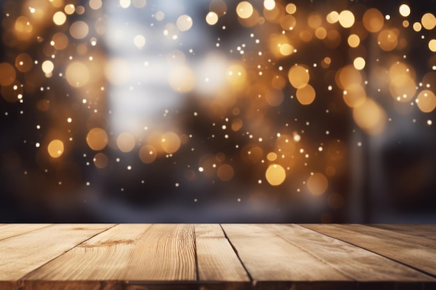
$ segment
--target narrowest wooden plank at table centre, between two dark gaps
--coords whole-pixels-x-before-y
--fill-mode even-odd
[[[226,289],[251,289],[251,282],[220,225],[195,225],[200,282],[226,282]],[[204,283],[203,283],[204,284]]]

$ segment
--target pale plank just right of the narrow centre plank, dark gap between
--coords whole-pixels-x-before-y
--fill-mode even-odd
[[[221,226],[254,280],[255,289],[290,289],[295,282],[355,289],[350,277],[270,232],[264,225]]]

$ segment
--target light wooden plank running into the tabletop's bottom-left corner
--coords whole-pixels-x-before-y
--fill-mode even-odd
[[[0,289],[113,225],[50,225],[0,241]]]

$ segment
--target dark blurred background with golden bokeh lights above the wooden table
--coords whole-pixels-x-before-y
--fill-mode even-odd
[[[0,222],[435,223],[435,7],[0,1]]]

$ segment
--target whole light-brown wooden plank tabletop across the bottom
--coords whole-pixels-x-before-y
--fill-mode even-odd
[[[436,225],[3,224],[0,289],[436,289]]]

